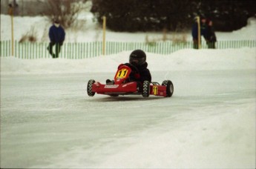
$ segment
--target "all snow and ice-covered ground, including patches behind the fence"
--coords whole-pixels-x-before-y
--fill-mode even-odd
[[[217,36],[252,39],[255,23]],[[255,48],[147,53],[153,81],[174,83],[171,98],[89,97],[88,80],[113,79],[129,53],[1,58],[1,168],[256,167]]]

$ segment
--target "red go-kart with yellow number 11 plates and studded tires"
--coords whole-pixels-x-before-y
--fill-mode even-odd
[[[95,93],[98,93],[109,96],[142,95],[148,97],[154,95],[171,97],[174,93],[174,85],[170,80],[163,81],[162,85],[157,82],[136,82],[129,79],[132,71],[138,72],[137,67],[133,64],[122,64],[118,67],[112,84],[102,84],[95,82],[93,79],[89,80],[87,85],[88,96],[94,96]]]

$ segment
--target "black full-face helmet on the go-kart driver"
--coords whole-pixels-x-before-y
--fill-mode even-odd
[[[146,59],[145,52],[143,50],[134,50],[130,54],[129,63],[134,65],[142,65],[145,63]]]

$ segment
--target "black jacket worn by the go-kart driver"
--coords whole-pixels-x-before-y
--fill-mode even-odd
[[[148,63],[145,62],[144,64],[137,66],[137,69],[139,70],[139,74],[140,74],[140,78],[136,79],[135,78],[135,73],[131,73],[129,78],[130,79],[135,79],[136,81],[140,81],[140,82],[144,82],[144,81],[148,81],[151,82],[151,73],[148,70]]]

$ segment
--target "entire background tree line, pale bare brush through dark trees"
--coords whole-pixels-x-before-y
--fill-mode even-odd
[[[59,18],[64,27],[72,26],[81,3],[91,1],[91,12],[99,24],[107,17],[114,31],[183,31],[191,29],[195,16],[211,19],[214,29],[232,31],[246,26],[256,16],[255,0],[12,0],[14,14]],[[10,1],[9,1],[10,2]],[[7,13],[8,1],[1,1],[1,13]],[[75,3],[80,3],[74,5]]]

